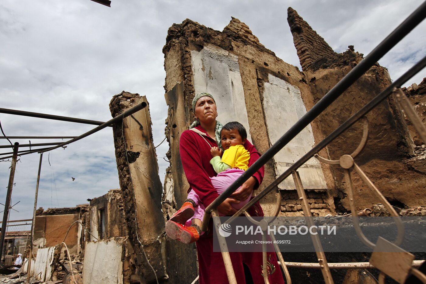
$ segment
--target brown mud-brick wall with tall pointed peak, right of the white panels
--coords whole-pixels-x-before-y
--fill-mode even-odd
[[[305,35],[305,41],[308,41],[309,37],[312,37],[312,42],[318,40],[317,34],[309,25],[300,24],[305,21],[292,9],[288,10],[288,23],[292,32],[297,30],[298,34]],[[294,32],[293,35],[296,41],[298,35]],[[301,64],[305,64],[304,73],[314,103],[363,59],[362,54],[354,52],[353,46],[334,57],[331,57],[328,46],[324,45],[316,46],[316,50],[308,49],[307,52],[312,52],[311,58],[324,54],[324,57],[317,58],[309,66],[305,64],[303,58],[300,58]],[[391,79],[386,68],[379,64],[371,67],[317,118],[322,135],[331,133],[390,83]],[[426,178],[424,173],[413,169],[407,163],[409,154],[414,154],[414,144],[409,137],[399,104],[393,96],[390,96],[368,113],[367,119],[369,139],[366,148],[355,158],[355,162],[391,203],[398,205],[403,203],[409,207],[424,205]],[[343,154],[351,154],[357,148],[361,136],[362,125],[358,122],[328,145],[328,159],[339,159]],[[343,171],[340,166],[333,166],[332,170],[334,188],[337,189],[334,191],[336,206],[339,211],[346,212],[349,206]],[[377,203],[377,197],[360,177],[357,174],[353,174],[352,177],[356,188],[357,207],[370,208],[372,204]]]

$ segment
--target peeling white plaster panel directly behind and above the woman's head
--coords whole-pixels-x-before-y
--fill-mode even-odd
[[[200,52],[191,51],[195,93],[210,93],[216,101],[222,124],[238,121],[250,139],[244,90],[239,72],[238,56],[208,44]]]

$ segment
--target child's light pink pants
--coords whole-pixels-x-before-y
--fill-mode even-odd
[[[240,170],[237,168],[228,168],[226,171],[222,171],[221,173],[217,174],[216,177],[210,177],[213,187],[216,189],[218,194],[222,194],[234,181],[236,181],[242,174],[244,174],[244,170]],[[245,206],[250,201],[250,196],[239,203],[231,203],[232,207],[239,210],[243,206]],[[194,216],[187,220],[185,223],[186,226],[190,226],[192,219],[199,219],[203,220],[204,217],[204,210],[206,207],[201,202],[200,197],[195,193],[193,189],[188,193],[188,199],[192,199],[195,202],[195,213]]]

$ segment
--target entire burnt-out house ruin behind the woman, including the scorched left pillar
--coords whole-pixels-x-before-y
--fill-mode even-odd
[[[248,130],[248,139],[264,153],[363,59],[353,46],[346,52],[335,52],[291,8],[288,9],[288,23],[302,71],[277,58],[245,23],[236,18],[232,18],[222,32],[189,19],[169,28],[163,48],[165,99],[169,106],[165,133],[170,145],[167,152],[170,167],[164,190],[158,178],[148,107],[113,128],[128,233],[126,253],[130,255],[130,263],[127,275],[134,283],[155,280],[191,283],[198,274],[195,246],[181,245],[164,235],[165,221],[187,196],[189,186],[178,147],[180,134],[193,122],[191,101],[196,93],[213,94],[219,110],[218,120],[241,122]],[[386,68],[379,64],[371,67],[265,165],[260,189],[390,83]],[[424,120],[423,85],[424,82],[406,92],[417,105],[417,112],[423,113]],[[139,103],[148,104],[144,97],[123,91],[111,100],[112,116]],[[420,142],[407,124],[398,102],[390,96],[372,110],[367,119],[369,139],[362,154],[357,156],[357,164],[391,204],[400,207],[425,205],[424,159],[413,158],[416,143]],[[319,154],[327,159],[351,154],[361,140],[362,128],[360,123],[354,125]],[[341,168],[312,158],[299,168],[299,174],[315,215],[349,211]],[[357,188],[357,209],[370,208],[377,203],[374,194],[356,175],[353,183]],[[412,188],[416,190],[410,190]],[[280,214],[302,216],[302,206],[291,177],[279,185],[278,191],[282,197]],[[272,213],[275,198],[276,195],[270,193],[262,199],[265,215]],[[98,210],[98,214],[103,213]]]

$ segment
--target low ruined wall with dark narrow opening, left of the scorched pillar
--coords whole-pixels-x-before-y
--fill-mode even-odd
[[[98,239],[127,236],[124,203],[119,189],[112,189],[90,201],[90,232]],[[90,238],[94,241],[94,238]]]

